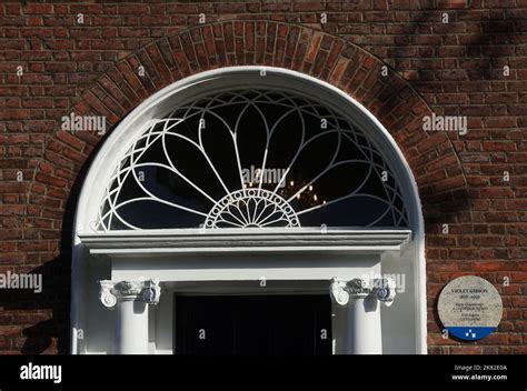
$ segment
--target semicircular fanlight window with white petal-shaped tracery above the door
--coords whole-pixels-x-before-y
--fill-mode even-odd
[[[151,120],[122,158],[98,230],[408,227],[367,131],[296,92],[195,99]]]

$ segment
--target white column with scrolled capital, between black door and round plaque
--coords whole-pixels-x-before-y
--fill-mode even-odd
[[[395,287],[387,279],[372,282],[370,284],[369,281],[361,279],[347,282],[338,279],[331,280],[331,299],[336,305],[345,309],[345,319],[340,319],[340,322],[344,321],[346,324],[345,335],[340,334],[336,339],[336,353],[382,353],[379,301],[391,303],[395,297]],[[338,328],[334,328],[334,330],[338,330]]]

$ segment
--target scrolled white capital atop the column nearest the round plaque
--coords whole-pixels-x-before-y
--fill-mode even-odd
[[[377,300],[391,305],[396,295],[396,283],[392,278],[340,280],[332,278],[329,288],[331,299],[339,305],[347,305],[350,298],[365,299],[375,297]]]

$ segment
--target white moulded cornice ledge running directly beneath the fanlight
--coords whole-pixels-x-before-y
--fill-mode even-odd
[[[200,253],[381,253],[400,251],[409,230],[220,229],[80,233],[95,255]]]

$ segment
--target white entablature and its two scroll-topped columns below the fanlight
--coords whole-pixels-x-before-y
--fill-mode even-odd
[[[100,281],[101,303],[117,308],[111,352],[148,353],[149,305],[168,293],[161,290],[206,293],[207,282],[215,283],[215,294],[327,292],[334,299],[334,352],[382,352],[380,302],[394,300],[387,292],[395,287],[382,283],[375,288],[377,281],[369,275],[380,274],[382,253],[401,251],[410,231],[228,231],[80,235],[92,255],[113,263],[113,282]],[[212,260],[189,265],[185,262],[188,254]],[[227,265],[235,254],[243,259],[243,269],[236,262]],[[260,257],[255,259],[256,254]],[[286,255],[286,261],[276,262],[277,255]],[[150,264],[138,269],[133,260]]]

